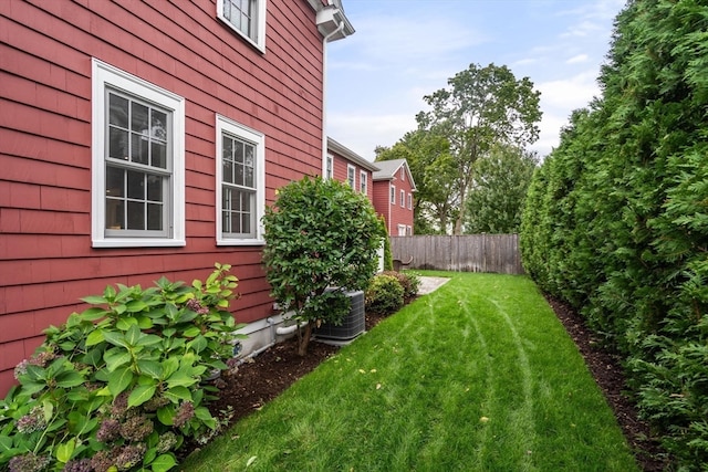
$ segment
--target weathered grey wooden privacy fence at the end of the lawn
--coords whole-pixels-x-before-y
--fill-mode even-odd
[[[407,269],[523,274],[519,234],[391,237],[394,259]]]

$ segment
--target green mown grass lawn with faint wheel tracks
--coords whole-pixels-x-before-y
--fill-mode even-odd
[[[575,345],[523,276],[452,280],[184,471],[637,471]]]

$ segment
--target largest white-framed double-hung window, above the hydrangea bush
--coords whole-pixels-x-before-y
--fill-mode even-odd
[[[92,60],[94,248],[185,245],[185,99]]]

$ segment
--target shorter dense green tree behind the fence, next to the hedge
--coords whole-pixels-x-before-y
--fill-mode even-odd
[[[479,158],[467,202],[466,232],[518,232],[523,200],[535,167],[534,154],[510,146],[494,146]]]

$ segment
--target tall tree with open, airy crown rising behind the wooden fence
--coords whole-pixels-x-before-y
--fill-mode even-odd
[[[475,162],[493,145],[523,147],[538,139],[540,92],[533,90],[528,77],[517,80],[507,66],[494,64],[470,64],[449,78],[448,85],[424,97],[431,109],[420,112],[416,119],[419,129],[449,143],[455,178],[448,185],[455,189],[452,200],[458,210],[454,232],[460,234],[475,181]]]

